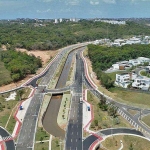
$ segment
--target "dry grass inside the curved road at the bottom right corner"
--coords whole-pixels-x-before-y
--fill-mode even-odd
[[[118,135],[118,136],[111,136],[107,138],[105,141],[102,142],[102,145],[107,150],[118,150],[121,147],[120,140],[123,143],[123,150],[130,150],[130,146],[132,144],[133,149],[131,150],[149,150],[150,148],[150,141],[136,137],[136,136],[129,136],[129,135]]]

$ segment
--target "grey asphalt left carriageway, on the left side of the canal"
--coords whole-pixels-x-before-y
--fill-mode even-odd
[[[79,45],[80,46],[80,45]],[[29,150],[34,149],[34,140],[35,140],[35,132],[36,132],[36,125],[38,121],[38,114],[39,110],[42,104],[42,100],[44,97],[44,94],[41,90],[41,88],[44,86],[47,86],[48,81],[50,81],[53,77],[53,74],[60,63],[63,56],[66,54],[67,51],[71,51],[73,48],[77,48],[77,46],[69,46],[67,48],[64,48],[52,61],[52,63],[48,66],[47,70],[45,70],[44,73],[36,76],[35,78],[29,80],[24,85],[32,85],[33,87],[36,87],[36,81],[40,78],[42,78],[41,83],[39,84],[38,88],[36,89],[34,96],[29,104],[29,107],[27,109],[27,112],[25,114],[25,118],[23,120],[23,124],[18,136],[18,140],[16,142],[16,150]],[[79,78],[80,79],[80,78]],[[80,79],[81,80],[81,79]],[[47,82],[46,82],[47,81]],[[45,83],[47,83],[45,85]],[[78,90],[77,90],[78,91]],[[82,91],[80,91],[82,92]],[[80,108],[80,113],[82,112],[82,109]],[[81,122],[82,117],[79,116]],[[82,130],[82,124],[79,126],[79,129]],[[82,137],[81,137],[82,141]],[[82,142],[81,142],[82,143]]]

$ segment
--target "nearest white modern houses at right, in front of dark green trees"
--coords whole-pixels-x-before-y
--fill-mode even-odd
[[[129,61],[117,62],[112,65],[111,70],[125,70],[132,66],[143,65],[144,63],[149,63],[148,66],[143,67],[143,69],[150,73],[150,59],[145,57],[138,57],[137,59],[132,59]],[[150,78],[141,76],[135,72],[120,73],[116,74],[115,85],[128,88],[131,85],[133,88],[141,90],[149,90],[150,88]]]

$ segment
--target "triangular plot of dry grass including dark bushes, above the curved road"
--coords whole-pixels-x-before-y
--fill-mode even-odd
[[[92,130],[105,129],[110,127],[131,127],[130,124],[121,116],[110,109],[110,105],[105,103],[105,99],[100,101],[91,92],[88,91],[87,99],[92,104],[94,110],[94,120],[91,123],[90,128]],[[113,109],[115,110],[115,109]]]

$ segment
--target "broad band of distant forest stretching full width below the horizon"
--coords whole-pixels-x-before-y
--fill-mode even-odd
[[[126,25],[81,20],[79,22],[52,22],[36,26],[36,21],[0,24],[0,45],[18,48],[54,50],[78,42],[101,38],[124,38],[133,35],[150,35],[150,28],[127,21]],[[41,23],[39,23],[41,24]]]

